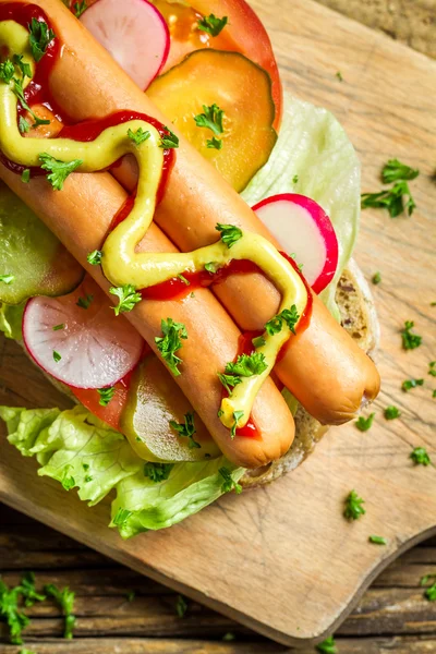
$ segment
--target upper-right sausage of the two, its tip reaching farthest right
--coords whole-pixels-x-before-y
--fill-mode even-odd
[[[75,120],[101,118],[129,108],[166,123],[153,102],[59,0],[36,0],[36,4],[47,12],[65,43],[50,77],[51,93],[61,108]],[[125,158],[113,174],[132,191],[136,162]],[[238,225],[275,243],[251,208],[182,137],[155,221],[184,252],[215,242],[217,222]],[[279,307],[279,293],[258,274],[230,277],[214,291],[244,330],[263,329]],[[353,417],[362,401],[376,397],[380,384],[371,359],[316,296],[310,327],[292,339],[275,370],[303,407],[326,424],[341,424]]]

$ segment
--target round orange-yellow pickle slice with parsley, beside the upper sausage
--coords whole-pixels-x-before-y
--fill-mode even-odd
[[[277,140],[271,84],[265,71],[243,55],[193,52],[155,80],[148,96],[237,191],[267,162]],[[220,149],[208,146],[214,131],[195,121],[204,107],[213,105],[223,111]]]

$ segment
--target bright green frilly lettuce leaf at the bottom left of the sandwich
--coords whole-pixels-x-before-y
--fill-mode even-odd
[[[226,467],[237,483],[244,473],[225,457],[202,463],[177,463],[167,480],[155,483],[144,474],[145,461],[119,432],[83,407],[22,409],[0,407],[8,440],[23,456],[35,456],[40,476],[57,480],[89,506],[111,491],[112,521],[123,538],[171,526],[223,495]]]

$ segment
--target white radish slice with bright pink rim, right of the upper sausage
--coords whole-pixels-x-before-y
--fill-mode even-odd
[[[330,218],[310,197],[283,193],[253,207],[288,253],[292,253],[315,293],[320,293],[338,267],[338,239]]]

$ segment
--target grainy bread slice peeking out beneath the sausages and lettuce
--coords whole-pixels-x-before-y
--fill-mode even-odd
[[[354,342],[372,359],[378,348],[380,327],[374,300],[366,279],[354,259],[351,259],[340,278],[336,301],[342,326]],[[328,426],[322,425],[303,407],[299,407],[295,421],[295,438],[291,448],[278,461],[256,470],[247,471],[241,480],[244,488],[256,488],[269,484],[287,472],[295,470],[313,452],[316,444],[326,434]]]

